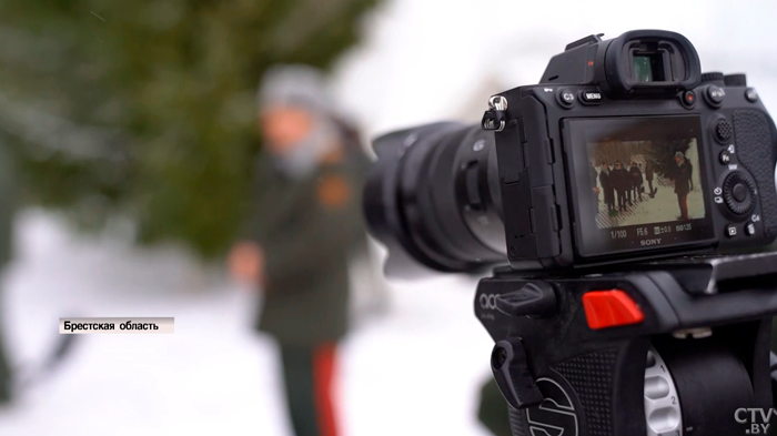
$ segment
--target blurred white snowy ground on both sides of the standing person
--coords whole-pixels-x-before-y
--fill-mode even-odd
[[[47,353],[60,316],[174,316],[175,333],[80,336],[60,371],[0,412],[0,435],[290,435],[274,344],[250,327],[258,302],[218,268],[175,247],[77,237],[40,211],[20,216],[18,242],[2,282],[17,365]],[[486,434],[476,392],[492,343],[474,284],[392,285],[389,313],[360,320],[341,351],[344,434]]]

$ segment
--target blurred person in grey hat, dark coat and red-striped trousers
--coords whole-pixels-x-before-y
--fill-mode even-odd
[[[280,345],[297,436],[336,436],[337,342],[349,328],[349,256],[366,251],[366,156],[333,116],[321,72],[279,65],[258,93],[260,190],[232,274],[262,287],[256,327]]]

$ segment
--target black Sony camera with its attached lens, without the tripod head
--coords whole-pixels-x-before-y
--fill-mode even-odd
[[[591,36],[481,125],[376,139],[364,209],[401,276],[751,249],[777,236],[776,144],[745,74],[700,73],[685,37]]]

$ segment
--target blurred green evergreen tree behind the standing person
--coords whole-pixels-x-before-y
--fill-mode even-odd
[[[260,146],[262,72],[330,67],[375,2],[0,0],[0,140],[31,201],[220,254]]]

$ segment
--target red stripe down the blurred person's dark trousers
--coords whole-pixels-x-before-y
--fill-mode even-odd
[[[313,354],[313,387],[321,436],[337,436],[335,409],[332,402],[335,351],[334,344],[326,344],[315,348]]]

